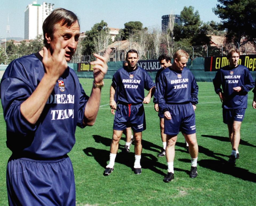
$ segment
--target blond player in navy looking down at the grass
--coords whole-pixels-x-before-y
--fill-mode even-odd
[[[174,179],[175,143],[179,131],[189,144],[191,156],[190,177],[197,176],[198,145],[195,129],[195,109],[198,103],[198,86],[186,63],[187,52],[178,50],[173,57],[173,64],[162,71],[158,78],[158,105],[164,114],[164,133],[166,134],[166,160],[168,172],[163,181]]]

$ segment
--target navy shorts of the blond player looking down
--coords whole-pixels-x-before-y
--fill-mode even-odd
[[[188,104],[167,104],[171,114],[170,120],[164,120],[164,133],[167,135],[177,135],[179,131],[190,135],[196,132],[195,112],[191,103]]]

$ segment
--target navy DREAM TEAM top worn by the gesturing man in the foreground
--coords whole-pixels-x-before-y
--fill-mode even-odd
[[[1,80],[7,147],[14,154],[32,159],[56,158],[70,152],[75,144],[76,126],[85,127],[84,111],[89,99],[77,75],[68,67],[56,82],[37,122],[30,124],[20,106],[37,88],[44,73],[42,57],[36,53],[13,60]]]

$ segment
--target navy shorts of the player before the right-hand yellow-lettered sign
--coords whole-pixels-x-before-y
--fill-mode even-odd
[[[245,116],[245,108],[238,109],[225,109],[222,110],[223,122],[225,124],[231,124],[234,121],[242,122]]]

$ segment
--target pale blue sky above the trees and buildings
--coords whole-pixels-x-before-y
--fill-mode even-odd
[[[194,12],[198,10],[200,19],[203,22],[220,22],[212,11],[218,4],[217,0],[38,0],[54,3],[54,8],[65,8],[73,11],[80,19],[81,32],[89,31],[95,23],[105,21],[109,27],[124,28],[124,23],[129,21],[140,21],[143,27],[161,28],[163,15],[180,14],[184,6],[193,6]],[[1,0],[0,12],[0,38],[21,37],[24,38],[24,11],[32,0]],[[10,32],[6,32],[9,25]]]

